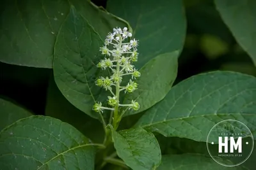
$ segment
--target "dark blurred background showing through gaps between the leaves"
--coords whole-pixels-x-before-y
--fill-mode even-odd
[[[106,7],[106,1],[92,2],[97,6]],[[212,0],[184,0],[184,12],[187,19],[187,35],[179,57],[179,71],[175,84],[195,74],[214,70],[237,71],[256,76],[252,59],[237,44],[221,20]],[[0,73],[0,96],[4,99],[19,103],[36,115],[60,118],[74,125],[93,141],[102,141],[104,132],[100,122],[88,117],[62,96],[52,78],[52,69],[0,62]],[[141,115],[142,113],[125,117],[120,129],[131,127]],[[93,132],[86,131],[90,128],[93,128]],[[172,146],[177,148],[175,145],[181,142],[180,139],[174,139]],[[161,137],[159,140],[161,143],[166,142]],[[164,150],[169,153],[181,152],[173,150],[172,147]]]

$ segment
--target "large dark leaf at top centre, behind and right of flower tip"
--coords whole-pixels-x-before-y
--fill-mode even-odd
[[[109,0],[107,10],[127,20],[133,37],[139,39],[136,67],[141,68],[162,53],[181,52],[186,35],[182,1]]]

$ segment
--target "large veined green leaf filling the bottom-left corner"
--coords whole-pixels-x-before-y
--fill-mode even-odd
[[[94,169],[95,149],[74,127],[32,116],[0,132],[2,169]]]

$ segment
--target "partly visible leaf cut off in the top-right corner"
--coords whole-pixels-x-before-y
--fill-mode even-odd
[[[215,0],[216,8],[239,45],[256,65],[256,3],[254,0]]]

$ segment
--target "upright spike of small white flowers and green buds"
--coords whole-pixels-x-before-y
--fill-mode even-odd
[[[124,27],[124,29],[116,27],[113,32],[109,32],[104,41],[104,46],[100,47],[100,52],[105,55],[105,58],[100,60],[97,67],[103,70],[110,69],[113,74],[110,77],[99,77],[95,84],[109,90],[112,96],[108,96],[110,108],[103,107],[102,103],[95,103],[93,105],[94,111],[103,113],[103,110],[114,110],[115,106],[126,106],[132,110],[140,109],[140,104],[136,101],[132,101],[130,104],[119,103],[119,93],[122,90],[125,93],[131,93],[138,88],[138,84],[134,80],[140,77],[140,72],[132,65],[133,62],[138,60],[138,40],[131,39],[126,42],[131,37],[132,33],[128,31],[127,27]],[[129,83],[126,86],[121,86],[122,77],[127,75],[131,75]],[[115,87],[115,93],[112,87]]]

